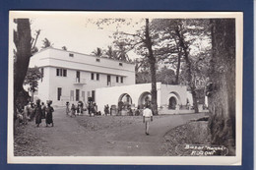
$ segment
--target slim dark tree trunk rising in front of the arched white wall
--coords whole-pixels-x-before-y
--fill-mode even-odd
[[[146,36],[145,43],[149,50],[148,59],[150,61],[150,67],[151,67],[152,109],[153,109],[153,114],[157,115],[158,114],[158,91],[157,91],[157,78],[156,78],[156,58],[154,57],[153,49],[152,49],[152,40],[151,40],[151,36],[150,36],[149,19],[146,19],[145,36]]]

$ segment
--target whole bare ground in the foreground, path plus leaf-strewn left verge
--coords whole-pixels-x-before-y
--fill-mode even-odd
[[[64,109],[56,109],[54,127],[46,128],[43,122],[39,128],[34,123],[18,128],[14,152],[16,156],[169,155],[162,148],[166,132],[204,116],[204,113],[155,116],[150,136],[146,136],[140,116],[70,118]]]

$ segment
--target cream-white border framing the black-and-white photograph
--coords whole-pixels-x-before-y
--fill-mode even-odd
[[[13,137],[13,30],[15,18],[54,17],[88,18],[174,18],[235,19],[236,38],[236,155],[235,156],[14,156]],[[10,11],[9,13],[9,80],[8,80],[8,163],[19,164],[141,164],[141,165],[241,165],[242,156],[242,55],[243,13],[241,12],[43,12]]]

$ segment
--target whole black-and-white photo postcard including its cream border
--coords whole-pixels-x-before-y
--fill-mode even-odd
[[[8,163],[241,165],[242,26],[10,11]]]

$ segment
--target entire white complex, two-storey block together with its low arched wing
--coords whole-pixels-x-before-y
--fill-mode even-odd
[[[39,67],[43,77],[38,81],[34,98],[52,100],[53,105],[88,102],[92,97],[98,111],[104,106],[118,105],[122,101],[142,108],[151,98],[151,84],[135,85],[135,65],[77,52],[46,48],[32,56],[30,67]],[[160,113],[192,113],[191,93],[185,85],[162,85],[157,83]],[[202,109],[200,109],[202,110]]]

